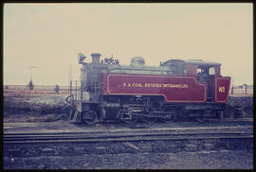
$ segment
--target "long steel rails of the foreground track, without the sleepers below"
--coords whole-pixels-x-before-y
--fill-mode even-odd
[[[89,132],[34,132],[6,133],[5,144],[55,143],[55,142],[112,142],[131,140],[157,140],[190,138],[245,138],[253,135],[252,127],[211,127],[211,128],[175,128],[175,129],[111,129]]]

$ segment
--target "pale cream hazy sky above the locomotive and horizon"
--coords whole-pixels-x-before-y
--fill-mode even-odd
[[[72,3],[4,5],[4,85],[61,85],[80,79],[78,54],[128,65],[210,60],[235,85],[253,83],[252,3]]]

